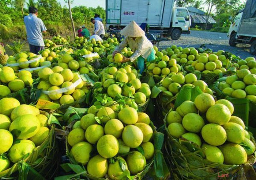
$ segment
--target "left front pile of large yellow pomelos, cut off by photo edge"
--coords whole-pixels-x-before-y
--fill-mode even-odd
[[[0,172],[33,153],[49,135],[48,117],[15,98],[0,99]]]

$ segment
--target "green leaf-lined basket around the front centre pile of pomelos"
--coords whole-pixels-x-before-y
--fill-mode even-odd
[[[75,110],[75,108],[73,108],[73,109]],[[75,115],[73,115],[73,116],[76,116],[76,120],[70,122],[69,125],[66,126],[64,130],[60,130],[61,135],[63,136],[62,139],[65,141],[66,156],[69,159],[69,163],[61,164],[61,167],[64,169],[65,172],[67,172],[67,173],[73,172],[73,174],[56,177],[56,180],[72,179],[72,178],[79,178],[79,179],[89,178],[89,179],[100,179],[100,180],[110,179],[108,177],[108,175],[106,175],[104,178],[98,178],[98,177],[89,175],[87,173],[86,166],[77,163],[75,161],[75,159],[72,157],[72,155],[70,154],[71,146],[67,142],[67,136],[68,136],[68,133],[72,130],[72,127],[75,124],[75,122],[80,119],[80,118],[78,118],[78,114],[80,114],[79,111],[77,113],[75,113]],[[71,116],[70,118],[73,119],[74,117]],[[157,171],[155,171],[154,176],[167,176],[166,172],[163,172],[163,164],[165,164],[165,162],[163,162],[164,160],[163,160],[163,155],[161,152],[162,145],[163,145],[163,134],[156,131],[155,126],[153,125],[153,122],[150,123],[150,126],[153,129],[153,141],[154,141],[154,147],[155,147],[154,158],[152,160],[148,161],[144,170],[142,172],[138,173],[137,175],[131,176],[130,172],[128,170],[125,170],[123,172],[123,174],[118,176],[117,178],[120,178],[120,179],[142,179],[149,171],[151,171],[151,170],[154,171],[154,166],[155,166],[155,169],[156,168],[158,169]],[[97,150],[95,150],[95,147],[93,149],[94,150],[91,153],[93,153],[95,155],[96,152],[94,152],[94,151],[97,151]],[[163,175],[163,173],[165,173],[165,175]],[[168,173],[169,173],[169,171],[168,171]]]

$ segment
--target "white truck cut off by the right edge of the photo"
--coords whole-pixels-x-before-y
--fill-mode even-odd
[[[251,44],[250,53],[256,55],[256,0],[247,0],[245,8],[237,12],[227,36],[230,46]]]

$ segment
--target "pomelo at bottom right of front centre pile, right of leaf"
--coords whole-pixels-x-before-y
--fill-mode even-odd
[[[132,175],[136,175],[144,170],[146,167],[146,159],[142,153],[138,151],[132,151],[127,156],[128,169]]]

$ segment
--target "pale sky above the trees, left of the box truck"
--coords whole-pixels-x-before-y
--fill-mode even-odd
[[[60,2],[61,6],[66,5],[68,7],[68,3],[65,3],[64,0],[57,0]],[[98,5],[102,8],[105,9],[106,3],[105,0],[74,0],[73,3],[71,4],[71,7],[74,6],[79,6],[79,5],[84,5],[87,7],[93,7],[97,8]]]

